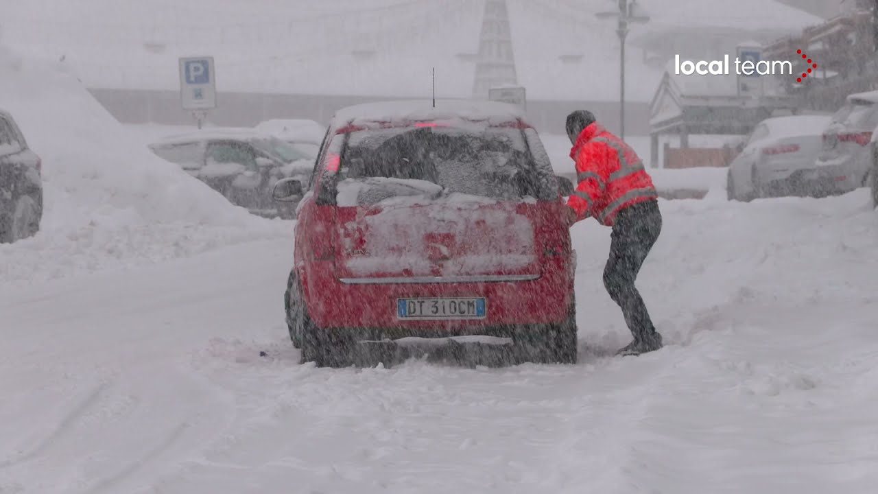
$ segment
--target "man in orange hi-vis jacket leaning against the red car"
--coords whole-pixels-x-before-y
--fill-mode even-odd
[[[659,194],[634,149],[595,121],[594,114],[586,110],[570,113],[566,130],[579,183],[567,201],[571,224],[591,216],[613,229],[604,287],[622,309],[634,336],[617,354],[659,350],[661,334],[635,287],[637,272],[661,232]]]

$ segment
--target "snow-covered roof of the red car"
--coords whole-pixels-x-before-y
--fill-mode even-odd
[[[515,105],[476,99],[431,99],[366,103],[342,108],[335,113],[336,121],[399,121],[399,120],[516,120],[525,118]]]

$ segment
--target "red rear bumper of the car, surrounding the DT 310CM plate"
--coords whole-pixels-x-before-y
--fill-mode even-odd
[[[423,338],[504,336],[515,327],[562,323],[572,302],[572,260],[546,263],[543,273],[531,279],[483,277],[478,281],[461,278],[441,283],[419,279],[339,280],[330,274],[334,272],[332,263],[325,264],[319,275],[312,272],[302,279],[308,314],[320,328],[371,329]],[[400,319],[398,300],[421,297],[484,297],[486,316]]]

